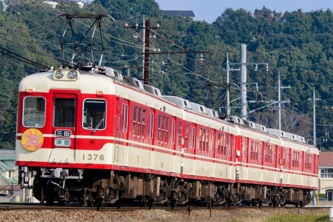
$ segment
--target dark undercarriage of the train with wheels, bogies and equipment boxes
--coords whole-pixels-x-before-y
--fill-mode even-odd
[[[32,186],[24,185],[35,178]],[[154,206],[179,205],[230,206],[246,205],[302,207],[310,202],[309,189],[265,186],[246,183],[226,183],[184,179],[147,173],[91,169],[22,168],[21,186],[33,189],[33,196],[47,205],[56,201],[94,204]]]

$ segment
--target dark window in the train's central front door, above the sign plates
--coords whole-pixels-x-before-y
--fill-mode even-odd
[[[74,127],[75,99],[54,98],[53,103],[53,126]]]

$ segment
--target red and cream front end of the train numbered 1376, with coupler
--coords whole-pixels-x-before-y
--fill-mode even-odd
[[[94,186],[103,171],[87,169],[105,169],[112,162],[113,81],[74,69],[31,74],[21,81],[16,135],[21,187],[32,188],[34,197],[48,205],[104,197],[101,184]],[[95,187],[94,197],[88,187]]]

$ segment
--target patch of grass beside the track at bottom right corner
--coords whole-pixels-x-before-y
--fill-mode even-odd
[[[330,222],[328,214],[282,214],[266,218],[263,222]]]

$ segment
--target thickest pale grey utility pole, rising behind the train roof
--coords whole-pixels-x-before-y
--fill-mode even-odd
[[[246,45],[240,45],[239,47],[239,63],[246,63]],[[246,65],[240,65],[240,82],[246,82]],[[240,118],[246,120],[246,84],[240,84]]]

